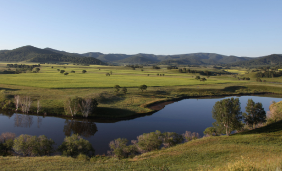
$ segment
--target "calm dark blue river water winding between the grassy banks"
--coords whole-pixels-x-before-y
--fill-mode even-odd
[[[230,98],[230,97],[225,97]],[[241,108],[245,111],[247,100],[263,103],[266,111],[271,101],[282,101],[282,96],[241,96]],[[136,139],[138,135],[156,130],[184,133],[186,130],[198,132],[212,126],[211,109],[216,101],[224,98],[185,99],[168,104],[162,110],[150,116],[126,121],[106,121],[90,119],[71,119],[59,117],[42,117],[15,114],[0,111],[0,133],[14,132],[16,135],[46,135],[59,146],[64,137],[78,133],[92,143],[96,153],[103,154],[109,149],[109,143],[115,138],[124,137],[128,140]]]

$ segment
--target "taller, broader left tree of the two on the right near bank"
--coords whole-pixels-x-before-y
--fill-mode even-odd
[[[212,118],[216,120],[212,125],[219,133],[230,135],[233,130],[242,128],[242,112],[238,98],[228,98],[218,101],[212,108]]]

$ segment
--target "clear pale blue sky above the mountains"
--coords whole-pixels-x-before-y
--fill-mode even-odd
[[[0,49],[257,57],[282,53],[282,1],[0,0]]]

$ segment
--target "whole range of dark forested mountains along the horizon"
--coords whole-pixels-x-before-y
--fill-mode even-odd
[[[40,49],[24,46],[13,50],[0,50],[0,61],[30,61],[30,62],[71,62],[82,64],[127,63],[127,64],[156,64],[156,65],[272,65],[282,64],[281,54],[271,54],[257,58],[227,56],[216,53],[188,53],[177,55],[155,55],[138,53],[103,54],[100,52],[69,53],[52,48]]]

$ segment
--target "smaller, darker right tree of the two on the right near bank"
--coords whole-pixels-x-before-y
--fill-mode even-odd
[[[253,99],[248,99],[245,109],[246,113],[243,113],[244,121],[252,129],[256,128],[258,124],[266,122],[266,112],[262,103],[255,103]]]

